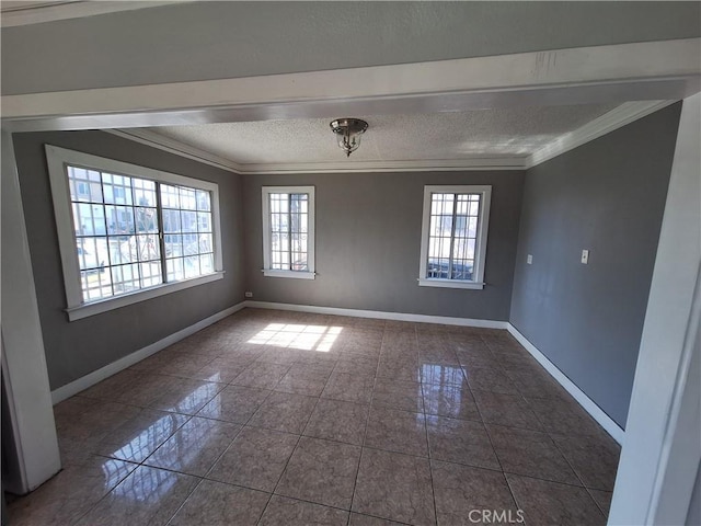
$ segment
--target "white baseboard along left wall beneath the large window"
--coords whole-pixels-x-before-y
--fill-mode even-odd
[[[78,395],[80,391],[83,391],[91,386],[94,386],[99,381],[102,381],[105,378],[108,378],[112,375],[115,375],[120,370],[133,366],[137,362],[142,361],[143,358],[148,358],[152,354],[156,354],[159,351],[164,350],[169,345],[177,343],[181,340],[196,333],[197,331],[202,331],[206,327],[209,327],[212,323],[216,323],[217,321],[225,319],[227,316],[231,316],[234,312],[238,312],[244,307],[245,307],[245,301],[241,301],[240,304],[237,304],[233,307],[229,307],[228,309],[217,312],[216,315],[211,315],[210,317],[205,318],[204,320],[200,320],[197,323],[193,323],[192,325],[186,327],[185,329],[182,329],[177,332],[174,332],[173,334],[170,334],[169,336],[165,336],[162,340],[159,340],[158,342],[154,342],[150,345],[147,345],[143,348],[135,351],[134,353],[123,358],[119,358],[116,362],[105,365],[104,367],[97,370],[93,370],[92,373],[81,378],[78,378],[77,380],[71,381],[70,384],[66,384],[65,386],[59,387],[58,389],[51,391],[51,401],[54,405],[56,405],[58,402],[66,400],[67,398],[72,397],[73,395]]]

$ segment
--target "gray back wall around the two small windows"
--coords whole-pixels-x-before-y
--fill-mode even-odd
[[[520,171],[244,176],[245,267],[255,300],[507,320],[524,173]],[[313,281],[265,277],[261,186],[314,185]],[[483,290],[420,287],[425,184],[491,184]]]

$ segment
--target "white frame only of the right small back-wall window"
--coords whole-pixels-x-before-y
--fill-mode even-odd
[[[472,270],[472,281],[444,279],[427,277],[428,263],[428,229],[430,225],[432,194],[480,194],[480,216],[478,237],[475,242],[475,259]],[[486,240],[490,228],[490,205],[492,201],[492,186],[490,185],[429,185],[424,186],[424,210],[421,229],[421,262],[418,270],[418,285],[422,287],[444,288],[484,288],[484,265],[486,261]]]

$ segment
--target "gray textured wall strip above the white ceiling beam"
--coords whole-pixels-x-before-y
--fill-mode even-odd
[[[699,2],[196,2],[3,27],[2,93],[689,38],[699,16]]]

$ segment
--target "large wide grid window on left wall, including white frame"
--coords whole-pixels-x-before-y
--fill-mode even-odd
[[[70,319],[221,274],[217,185],[51,146],[46,151]]]

